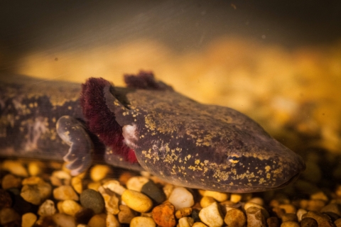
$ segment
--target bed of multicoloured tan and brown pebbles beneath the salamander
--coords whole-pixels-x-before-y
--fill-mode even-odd
[[[341,184],[323,179],[313,154],[296,183],[253,194],[176,187],[107,165],[71,177],[59,162],[1,160],[0,225],[341,226]]]

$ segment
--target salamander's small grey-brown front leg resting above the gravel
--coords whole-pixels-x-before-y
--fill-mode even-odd
[[[71,170],[72,176],[85,172],[92,164],[94,144],[84,123],[71,116],[62,116],[58,119],[56,128],[60,138],[70,145],[63,157],[65,162],[69,162],[67,169]]]

